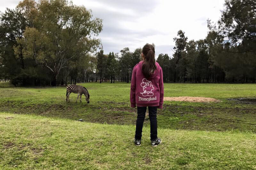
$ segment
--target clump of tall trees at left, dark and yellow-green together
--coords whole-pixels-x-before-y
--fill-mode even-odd
[[[0,17],[0,79],[14,85],[57,85],[86,80],[102,20],[66,0],[24,0]]]

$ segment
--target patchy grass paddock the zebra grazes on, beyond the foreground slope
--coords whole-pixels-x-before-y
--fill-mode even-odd
[[[65,87],[0,88],[0,111],[37,114],[87,122],[134,124],[136,109],[130,108],[130,84],[84,83],[91,94],[90,104],[75,103],[76,94],[66,103]],[[225,131],[254,131],[255,104],[237,103],[227,98],[255,97],[255,84],[164,84],[164,96],[203,96],[220,103],[164,102],[158,111],[161,128]],[[149,124],[148,116],[145,124]]]

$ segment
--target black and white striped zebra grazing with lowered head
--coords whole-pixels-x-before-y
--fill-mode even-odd
[[[81,98],[82,98],[82,95],[84,94],[85,95],[85,100],[87,101],[87,103],[90,103],[90,94],[88,92],[88,90],[83,87],[82,85],[68,85],[67,86],[67,93],[66,93],[66,96],[67,96],[67,99],[66,101],[69,102],[69,94],[70,93],[78,93],[77,95],[77,99],[76,99],[76,103],[77,103],[77,100],[79,98],[79,95],[80,95],[80,102],[82,102]]]

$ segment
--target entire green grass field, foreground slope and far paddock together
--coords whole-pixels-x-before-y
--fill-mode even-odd
[[[142,146],[132,144],[130,84],[82,85],[89,104],[72,93],[67,103],[65,87],[0,88],[0,169],[256,169],[254,84],[164,84],[165,97],[222,102],[165,101],[156,148],[148,116]]]

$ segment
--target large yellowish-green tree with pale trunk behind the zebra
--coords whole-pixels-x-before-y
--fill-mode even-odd
[[[25,29],[14,50],[17,56],[22,51],[25,57],[48,68],[55,86],[60,70],[68,62],[77,61],[99,46],[100,40],[92,35],[100,33],[102,20],[92,19],[91,11],[66,0],[39,1],[37,6],[34,27]]]

